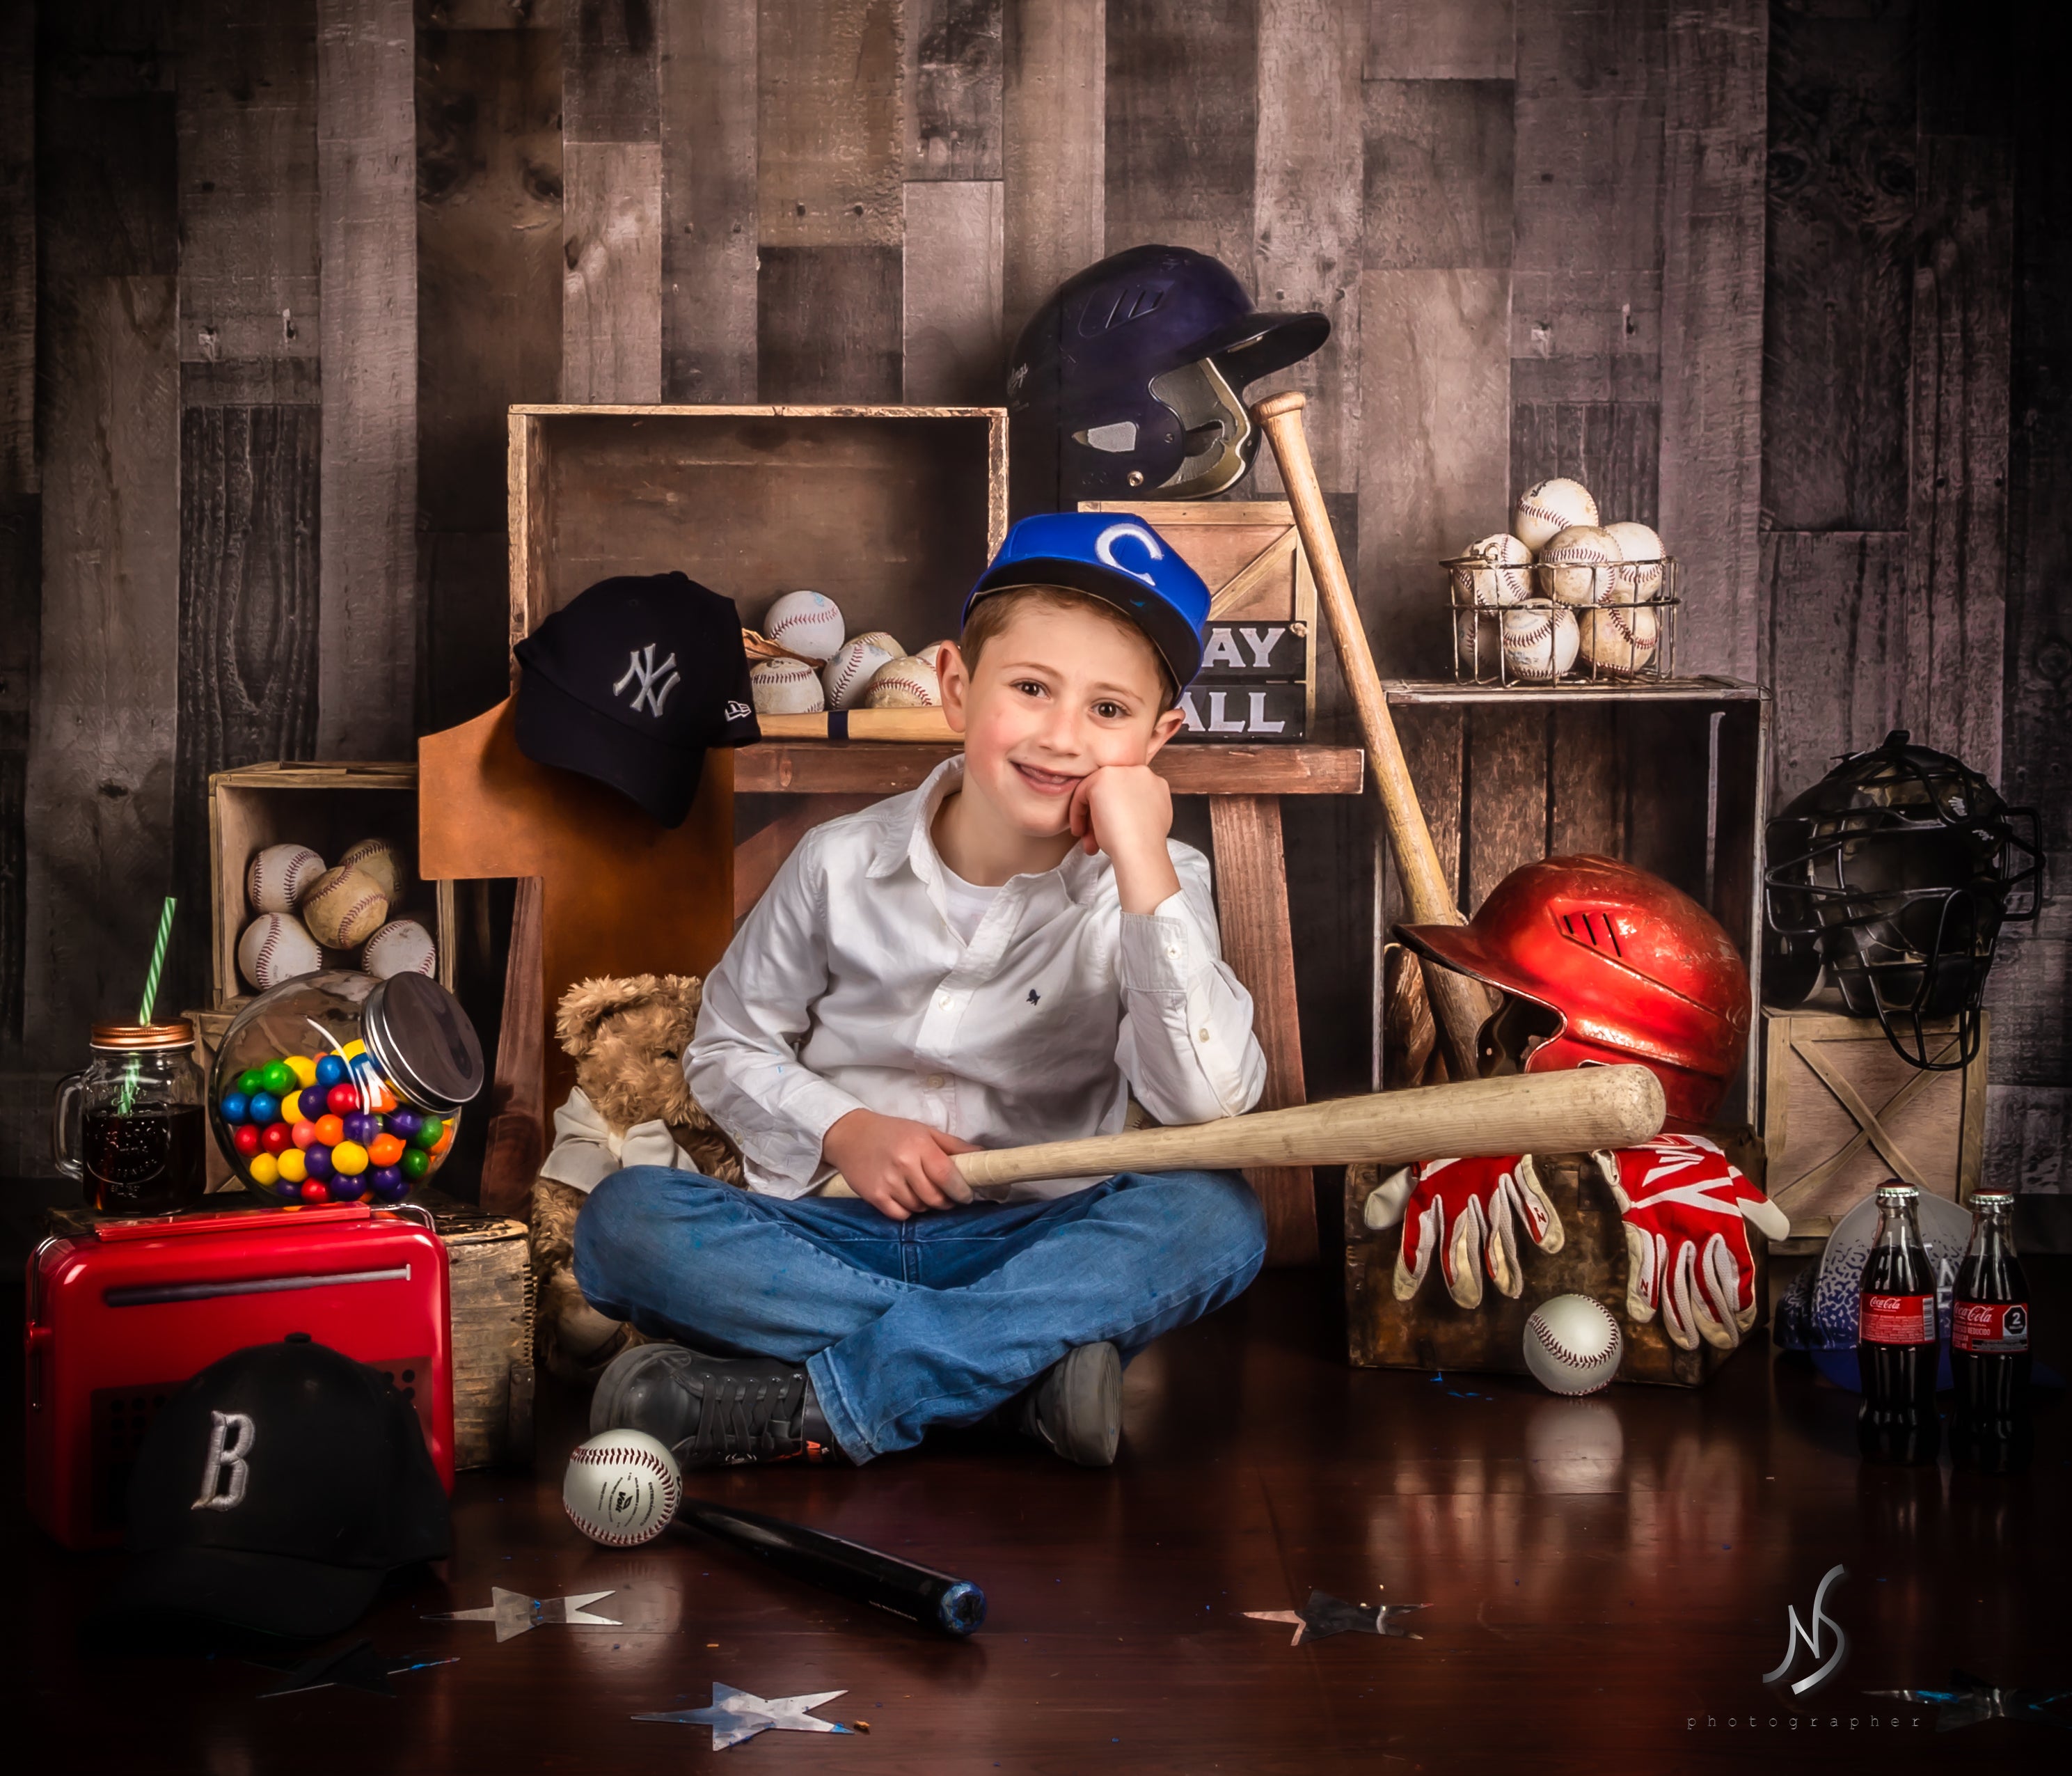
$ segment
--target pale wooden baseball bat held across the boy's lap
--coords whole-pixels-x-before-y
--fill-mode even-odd
[[[1419,1086],[1254,1111],[1214,1123],[1121,1129],[1069,1142],[957,1154],[974,1190],[1117,1171],[1237,1171],[1254,1165],[1405,1165],[1473,1154],[1639,1146],[1662,1132],[1662,1082],[1647,1067],[1577,1067]]]

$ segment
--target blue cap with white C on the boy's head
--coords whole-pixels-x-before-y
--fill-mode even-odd
[[[1150,524],[1123,512],[1042,512],[1007,533],[963,601],[1013,586],[1065,586],[1127,615],[1185,688],[1202,669],[1208,584]]]

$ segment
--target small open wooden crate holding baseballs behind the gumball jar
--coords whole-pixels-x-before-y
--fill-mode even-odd
[[[325,862],[354,839],[390,839],[416,856],[416,765],[276,763],[209,777],[209,959],[215,1009],[251,997],[238,978],[238,935],[253,920],[244,868],[265,846],[296,841]],[[454,984],[454,885],[412,879],[392,918],[414,918],[439,947],[439,982]],[[346,951],[336,955],[350,968]]]

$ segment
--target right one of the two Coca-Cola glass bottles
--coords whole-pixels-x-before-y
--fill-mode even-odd
[[[2028,1465],[2028,1281],[2008,1223],[2014,1198],[1981,1190],[1970,1200],[1970,1245],[1956,1272],[1950,1378],[1956,1417],[1950,1446],[1985,1473]]]

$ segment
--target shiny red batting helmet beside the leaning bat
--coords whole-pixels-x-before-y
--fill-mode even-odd
[[[1637,1061],[1670,1121],[1705,1123],[1749,1044],[1749,970],[1720,922],[1612,858],[1504,877],[1467,924],[1407,924],[1419,955],[1502,991],[1477,1049],[1490,1071]]]

